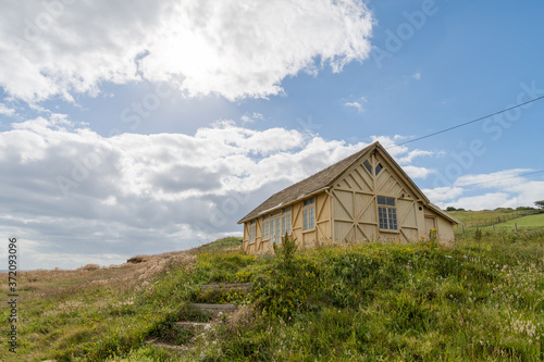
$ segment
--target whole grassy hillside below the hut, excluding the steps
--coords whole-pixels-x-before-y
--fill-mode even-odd
[[[20,348],[10,354],[3,341],[1,360],[544,359],[541,227],[466,235],[455,246],[343,245],[284,257],[244,254],[239,238],[230,238],[131,261],[23,273]],[[201,287],[240,282],[252,289],[218,295]],[[174,324],[207,319],[191,302],[240,308],[191,336]],[[191,352],[146,345],[153,336],[190,341]]]

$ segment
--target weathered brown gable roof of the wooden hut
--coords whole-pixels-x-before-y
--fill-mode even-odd
[[[382,145],[380,145],[379,141],[375,141],[372,145],[363,148],[362,150],[345,158],[344,160],[341,160],[341,161],[336,162],[335,164],[318,172],[317,174],[313,174],[313,175],[281,190],[280,192],[272,195],[264,202],[262,202],[260,205],[258,205],[256,209],[254,209],[250,213],[248,213],[246,216],[244,216],[238,222],[238,224],[242,224],[246,221],[256,219],[265,212],[271,212],[275,209],[287,205],[288,203],[293,203],[299,199],[302,199],[304,197],[310,196],[312,194],[317,194],[318,191],[321,191],[321,190],[324,190],[324,189],[331,187],[332,185],[334,185],[336,179],[339,178],[344,174],[344,172],[347,168],[349,168],[353,164],[358,162],[363,157],[370,154],[376,148],[380,149],[382,151],[382,153],[388,159],[388,161],[391,161],[395,165],[395,167],[408,180],[409,186],[411,186],[417,191],[417,194],[420,196],[420,198],[428,205],[432,205],[431,208],[433,210],[435,210],[436,212],[440,211],[440,213],[444,217],[452,221],[453,223],[459,223],[459,221],[452,217],[447,213],[443,212],[437,207],[433,205],[429,201],[429,199],[423,195],[423,192],[418,188],[418,186],[416,186],[416,184],[411,180],[411,178],[408,177],[408,175],[395,162],[395,160],[387,153],[387,151],[385,151],[385,149],[382,147]]]

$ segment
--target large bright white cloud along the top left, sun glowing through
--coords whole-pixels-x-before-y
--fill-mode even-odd
[[[361,0],[2,2],[0,86],[28,102],[143,78],[262,98],[288,75],[368,58],[372,23]]]

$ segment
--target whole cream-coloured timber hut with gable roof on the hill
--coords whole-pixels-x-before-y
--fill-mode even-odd
[[[285,233],[302,247],[327,242],[454,240],[459,223],[423,195],[380,142],[294,184],[248,213],[244,250],[265,252]]]

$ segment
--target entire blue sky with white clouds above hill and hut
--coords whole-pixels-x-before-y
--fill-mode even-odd
[[[376,139],[442,208],[544,199],[544,100],[393,147],[544,96],[540,2],[0,8],[0,229],[24,269],[240,235]]]

